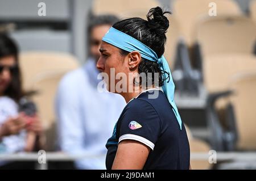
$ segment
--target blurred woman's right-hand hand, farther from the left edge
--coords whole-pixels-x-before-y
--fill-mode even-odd
[[[32,131],[38,135],[43,132],[43,125],[37,115],[25,116],[25,119],[27,122],[27,125],[26,125],[27,131]]]

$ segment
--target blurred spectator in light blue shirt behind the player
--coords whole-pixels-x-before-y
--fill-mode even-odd
[[[60,149],[71,154],[102,155],[75,162],[77,169],[106,169],[105,144],[111,136],[126,103],[122,96],[97,91],[96,62],[101,39],[118,19],[112,15],[94,16],[89,25],[90,58],[80,69],[61,80],[56,98]]]

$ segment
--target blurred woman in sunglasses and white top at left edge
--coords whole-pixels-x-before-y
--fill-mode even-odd
[[[22,110],[22,84],[18,48],[8,36],[0,35],[0,153],[35,151],[43,144],[42,124],[31,110]],[[31,103],[32,104],[32,103]],[[34,104],[33,104],[34,105]],[[0,162],[5,165],[7,162]]]

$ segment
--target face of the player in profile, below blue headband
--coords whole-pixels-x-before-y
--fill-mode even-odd
[[[115,85],[119,82],[119,79],[115,79],[115,76],[118,73],[123,73],[126,75],[126,85],[129,84],[128,74],[131,72],[129,69],[129,56],[123,56],[120,52],[120,49],[110,45],[104,41],[102,41],[100,47],[101,56],[97,62],[97,69],[100,70],[102,73],[108,74],[109,80],[104,79],[107,84],[108,91],[110,92],[118,92],[115,89]],[[110,81],[113,79],[114,81]],[[112,89],[111,87],[114,87]]]

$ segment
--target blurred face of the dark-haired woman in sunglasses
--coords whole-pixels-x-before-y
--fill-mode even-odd
[[[0,95],[9,86],[12,75],[11,71],[15,69],[16,61],[14,56],[0,58]]]

